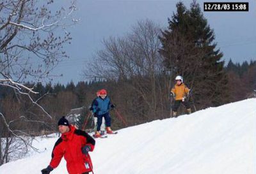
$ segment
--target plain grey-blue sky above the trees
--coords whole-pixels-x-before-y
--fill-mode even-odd
[[[191,1],[183,2],[189,8]],[[205,1],[198,1],[201,8]],[[70,59],[54,69],[54,75],[63,76],[54,78],[53,83],[83,80],[81,73],[86,68],[86,61],[90,61],[92,55],[102,48],[102,40],[129,33],[138,20],[150,19],[167,27],[167,18],[176,11],[177,2],[77,0],[75,15],[80,22],[68,28],[73,38],[72,44],[66,48]],[[256,60],[256,1],[246,2],[249,2],[248,12],[204,12],[226,62],[230,58],[234,62]]]

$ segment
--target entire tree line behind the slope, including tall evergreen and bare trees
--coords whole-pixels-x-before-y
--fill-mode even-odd
[[[170,117],[170,89],[177,75],[183,76],[191,89],[189,101],[197,110],[248,98],[256,88],[256,61],[239,64],[230,60],[225,66],[214,40],[214,31],[198,3],[193,1],[189,8],[177,3],[166,29],[141,20],[125,36],[105,39],[102,50],[83,71],[84,78],[91,81],[25,83],[39,92],[31,96],[53,119],[4,86],[0,86],[1,112],[10,120],[20,120],[10,126],[28,134],[52,131],[61,116],[72,108],[84,106],[88,111],[96,92],[106,89],[132,126]],[[180,108],[179,113],[183,112]],[[111,111],[111,116],[114,129],[124,127],[115,112]],[[7,136],[1,121],[0,127],[1,136]]]

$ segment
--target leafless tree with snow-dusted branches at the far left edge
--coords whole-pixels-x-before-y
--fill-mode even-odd
[[[40,108],[49,118],[51,115],[38,105],[40,99],[31,96],[38,92],[33,91],[33,87],[26,87],[22,83],[27,79],[42,81],[45,78],[51,78],[51,70],[61,59],[68,57],[64,51],[64,45],[70,43],[72,38],[65,28],[77,22],[72,18],[76,6],[74,1],[71,1],[66,8],[60,6],[60,10],[56,10],[55,7],[53,0],[0,2],[0,87],[12,89],[18,103],[22,103],[22,98],[28,98],[31,105]],[[8,132],[6,134],[1,132],[0,137],[10,138],[10,141],[6,140],[6,142],[17,142],[19,139],[24,145],[29,146],[31,141],[21,136],[29,137],[29,134],[11,126],[19,118],[26,117],[20,113],[16,116],[22,117],[10,119],[0,111],[1,127]],[[0,143],[3,145],[3,141]],[[3,151],[1,146],[2,158]],[[7,153],[10,157],[9,153],[10,149]],[[1,162],[6,163],[8,160]]]

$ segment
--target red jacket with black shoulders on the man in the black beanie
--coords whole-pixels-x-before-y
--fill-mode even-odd
[[[89,154],[82,153],[82,147],[90,145],[93,151],[95,140],[89,134],[70,126],[68,133],[61,134],[52,150],[52,159],[50,166],[56,168],[64,156],[67,161],[67,170],[69,174],[81,174],[92,171],[92,161]]]

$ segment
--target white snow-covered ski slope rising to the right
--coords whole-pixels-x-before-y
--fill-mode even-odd
[[[0,174],[40,174],[55,138],[38,138],[42,151],[0,166]],[[256,174],[256,99],[156,120],[97,139],[95,174]],[[46,150],[44,150],[46,149]],[[51,174],[67,173],[65,161]]]

